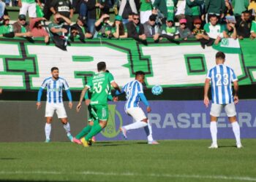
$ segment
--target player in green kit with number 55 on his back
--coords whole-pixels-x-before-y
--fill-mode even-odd
[[[96,112],[99,122],[94,122],[91,127],[90,132],[85,138],[81,139],[83,146],[89,146],[89,140],[97,135],[103,128],[106,127],[108,122],[108,93],[110,92],[110,87],[114,87],[115,90],[121,91],[118,84],[114,81],[113,75],[106,72],[106,63],[99,62],[97,64],[98,73],[94,74],[92,79],[83,88],[80,95],[80,100],[77,106],[77,111],[80,111],[82,106],[82,101],[86,92],[91,90],[91,108]]]

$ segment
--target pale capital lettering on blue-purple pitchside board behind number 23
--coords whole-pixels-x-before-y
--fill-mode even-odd
[[[240,127],[256,127],[256,117],[252,119],[250,113],[238,113],[238,123]],[[174,116],[172,113],[160,115],[156,113],[148,114],[148,119],[152,126],[157,128],[209,128],[210,121],[206,120],[206,113],[180,113]],[[225,113],[220,114],[218,119],[218,127],[232,127]]]

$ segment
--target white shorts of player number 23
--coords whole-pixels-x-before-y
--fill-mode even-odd
[[[228,103],[228,104],[212,103],[211,112],[210,112],[211,116],[219,117],[222,112],[222,108],[225,109],[225,112],[228,117],[236,116],[235,103]]]

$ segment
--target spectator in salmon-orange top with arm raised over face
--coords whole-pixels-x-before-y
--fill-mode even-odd
[[[30,20],[29,28],[33,37],[44,37],[45,43],[48,43],[49,34],[45,31],[45,28],[42,27],[42,20],[46,20],[45,17],[37,17]]]

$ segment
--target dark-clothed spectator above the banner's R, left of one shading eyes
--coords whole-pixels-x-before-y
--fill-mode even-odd
[[[79,16],[77,22],[71,27],[70,39],[74,41],[74,37],[78,37],[83,42],[86,38],[92,38],[92,34],[86,28],[86,21],[83,19],[83,16]]]

